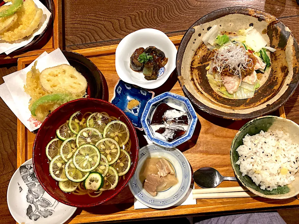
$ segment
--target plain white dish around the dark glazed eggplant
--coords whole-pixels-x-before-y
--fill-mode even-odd
[[[165,57],[168,58],[164,74],[156,80],[146,80],[142,72],[135,72],[130,68],[130,57],[133,52],[137,48],[147,48],[149,46],[160,49],[164,52]],[[124,82],[146,89],[154,89],[162,86],[175,69],[176,55],[176,47],[162,31],[141,29],[126,35],[118,44],[115,52],[115,68],[118,76]],[[159,72],[161,72],[161,69]]]

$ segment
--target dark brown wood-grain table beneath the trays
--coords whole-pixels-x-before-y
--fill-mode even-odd
[[[86,5],[81,0],[65,0],[64,46],[66,50],[75,50],[117,44],[128,33],[149,27],[162,30],[168,36],[181,35],[200,17],[229,6],[249,6],[271,13],[299,40],[299,6],[295,0],[94,0]],[[16,70],[16,65],[4,65],[0,67],[0,75]],[[299,89],[285,105],[287,118],[297,123],[298,96]],[[0,108],[0,220],[14,223],[7,208],[6,191],[16,170],[17,120],[2,100]]]

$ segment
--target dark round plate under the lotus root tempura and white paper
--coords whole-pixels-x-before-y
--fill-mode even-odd
[[[102,72],[95,64],[84,57],[82,54],[71,51],[62,52],[69,64],[77,69],[87,80],[87,95],[88,98],[97,98],[108,101],[108,86]]]

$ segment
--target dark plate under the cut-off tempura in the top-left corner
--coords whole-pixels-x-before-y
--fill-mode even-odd
[[[11,53],[12,55],[20,54],[21,52],[26,51],[28,49],[40,49],[50,40],[53,30],[53,18],[55,13],[54,2],[53,0],[40,0],[40,2],[43,3],[43,5],[47,7],[47,9],[51,12],[51,16],[45,30],[43,30],[43,32],[40,35],[35,36],[33,40],[24,47],[21,47],[20,49],[13,51]],[[2,6],[3,4],[5,4],[5,2],[3,0],[0,0],[0,6]]]

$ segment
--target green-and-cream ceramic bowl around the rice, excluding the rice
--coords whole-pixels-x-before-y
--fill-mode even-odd
[[[260,131],[276,131],[280,130],[284,133],[289,133],[293,144],[299,144],[299,125],[295,122],[276,116],[264,116],[253,119],[246,123],[236,134],[230,149],[230,162],[238,180],[252,193],[263,197],[272,199],[287,199],[292,198],[299,194],[299,173],[297,172],[295,180],[284,187],[279,186],[272,191],[262,190],[260,186],[257,186],[253,180],[245,175],[242,175],[240,166],[236,164],[239,160],[239,154],[236,149],[243,145],[243,138],[246,134],[250,136],[260,133]]]

